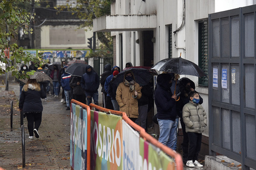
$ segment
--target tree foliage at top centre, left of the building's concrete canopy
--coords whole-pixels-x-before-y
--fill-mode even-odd
[[[89,29],[93,28],[93,19],[110,15],[111,14],[111,3],[113,0],[77,0],[76,3],[68,3],[64,6],[60,6],[60,10],[68,9],[74,11],[80,20],[84,20],[84,24],[80,28],[86,27]],[[97,38],[102,43],[100,52],[104,56],[110,56],[113,54],[113,40],[111,33],[109,32],[97,32]],[[106,53],[105,53],[106,52]]]

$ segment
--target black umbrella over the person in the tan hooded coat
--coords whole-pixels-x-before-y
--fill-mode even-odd
[[[117,78],[114,80],[114,84],[118,86],[119,83],[123,82],[124,76],[127,72],[133,73],[135,77],[135,82],[138,83],[140,86],[147,85],[149,81],[153,78],[153,75],[147,69],[130,67],[117,74]]]

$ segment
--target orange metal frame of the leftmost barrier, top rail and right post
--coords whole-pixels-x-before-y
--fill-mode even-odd
[[[72,103],[78,104],[82,108],[87,110],[87,119],[89,120],[87,121],[87,132],[88,132],[87,133],[87,170],[90,170],[90,107],[84,103],[78,102],[75,99],[71,100],[71,104]],[[71,110],[70,110],[70,114],[71,114]],[[74,170],[72,167],[71,169]]]

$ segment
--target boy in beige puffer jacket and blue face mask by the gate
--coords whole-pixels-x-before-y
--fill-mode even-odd
[[[207,115],[203,106],[199,104],[200,98],[197,91],[190,91],[188,98],[190,102],[182,109],[182,118],[189,140],[186,166],[203,167],[197,160],[202,143],[202,133],[207,125]]]

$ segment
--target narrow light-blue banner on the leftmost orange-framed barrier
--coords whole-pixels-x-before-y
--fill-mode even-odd
[[[87,167],[87,110],[71,104],[70,118],[70,165],[76,169]]]

